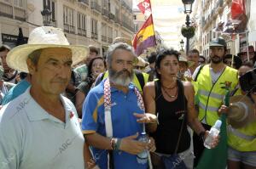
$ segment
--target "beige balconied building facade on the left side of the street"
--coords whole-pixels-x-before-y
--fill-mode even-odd
[[[44,8],[71,44],[94,45],[101,54],[115,37],[134,34],[132,0],[0,0],[0,44],[15,47],[19,27],[27,38],[43,25]]]

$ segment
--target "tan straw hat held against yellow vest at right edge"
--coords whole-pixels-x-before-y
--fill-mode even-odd
[[[245,127],[256,120],[253,101],[247,96],[233,96],[227,110],[227,119],[234,128]]]

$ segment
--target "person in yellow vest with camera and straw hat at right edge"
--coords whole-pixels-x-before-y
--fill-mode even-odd
[[[219,109],[219,114],[228,117],[228,168],[256,168],[256,85],[251,83],[256,76],[252,78],[252,74],[255,71],[239,78],[243,95],[231,97],[230,106]],[[247,87],[247,83],[251,85]]]

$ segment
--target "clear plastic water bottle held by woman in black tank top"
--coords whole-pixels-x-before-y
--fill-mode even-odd
[[[218,133],[220,132],[220,127],[221,127],[222,121],[216,121],[214,126],[211,128],[209,135],[207,136],[205,142],[204,142],[204,146],[207,149],[212,149],[211,148],[211,144],[213,142],[213,139],[216,138],[218,136]]]

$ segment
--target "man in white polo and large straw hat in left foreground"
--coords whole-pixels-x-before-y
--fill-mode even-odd
[[[61,93],[71,65],[87,53],[51,26],[34,29],[27,44],[9,52],[8,65],[31,74],[31,87],[0,112],[0,168],[84,168],[78,115]]]

